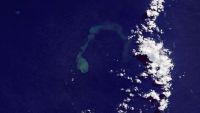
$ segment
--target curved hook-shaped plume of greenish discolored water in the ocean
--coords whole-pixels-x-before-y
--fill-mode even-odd
[[[127,36],[122,33],[122,27],[115,23],[104,23],[100,25],[95,25],[90,28],[89,35],[87,36],[87,42],[83,46],[81,46],[80,51],[76,57],[77,69],[80,70],[81,73],[87,73],[89,71],[89,63],[86,58],[83,57],[83,54],[88,47],[88,44],[96,38],[97,34],[99,34],[103,30],[116,32],[120,36],[120,38],[125,42],[122,56],[127,58],[130,41],[127,40]]]

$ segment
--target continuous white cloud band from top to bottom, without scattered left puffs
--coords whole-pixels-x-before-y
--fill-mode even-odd
[[[140,76],[151,77],[153,82],[161,86],[162,95],[150,90],[149,92],[142,95],[143,98],[153,98],[159,103],[158,110],[164,111],[168,106],[168,98],[171,95],[171,70],[174,65],[172,60],[169,58],[170,51],[163,47],[162,42],[156,42],[153,38],[144,36],[144,33],[154,34],[160,32],[156,25],[156,19],[160,13],[164,10],[164,0],[152,0],[149,8],[146,10],[147,18],[144,23],[140,26],[136,26],[136,30],[133,32],[136,36],[138,49],[133,50],[134,54],[146,56],[148,58],[146,71],[142,72]]]

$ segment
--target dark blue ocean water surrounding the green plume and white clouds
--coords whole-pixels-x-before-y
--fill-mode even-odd
[[[92,26],[116,23],[128,36],[142,22],[148,1],[1,2],[0,113],[80,113],[87,108],[115,113],[116,103],[124,97],[119,89],[130,84],[109,69],[125,67],[134,75],[141,71],[134,65],[139,62],[112,60],[122,60],[124,46],[112,31],[102,31],[88,45],[88,73],[77,70],[76,55]],[[175,64],[169,113],[200,112],[199,12],[198,1],[167,1],[158,19]]]

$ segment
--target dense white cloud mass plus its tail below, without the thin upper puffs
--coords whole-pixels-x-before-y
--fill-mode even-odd
[[[137,55],[145,55],[148,58],[147,70],[141,74],[141,76],[150,76],[155,84],[160,85],[162,94],[165,95],[164,99],[160,99],[158,93],[150,91],[143,95],[144,98],[153,98],[159,103],[159,110],[165,110],[168,105],[168,97],[171,95],[171,73],[173,69],[172,60],[169,58],[169,50],[163,47],[163,43],[156,43],[151,38],[138,38],[139,48],[134,52]]]

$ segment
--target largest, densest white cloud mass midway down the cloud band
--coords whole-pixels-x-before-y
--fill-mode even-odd
[[[147,65],[147,75],[151,75],[156,84],[162,85],[164,90],[170,87],[171,75],[173,68],[171,59],[168,57],[170,52],[163,48],[163,43],[156,43],[150,38],[139,38],[139,49],[135,55],[146,55],[150,62]]]

